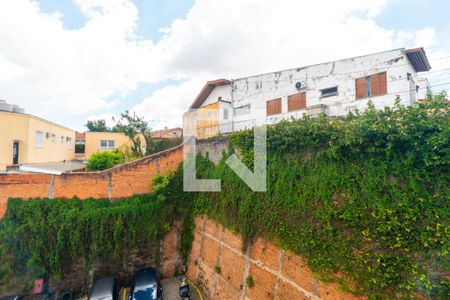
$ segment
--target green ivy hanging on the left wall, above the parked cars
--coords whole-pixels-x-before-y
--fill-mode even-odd
[[[10,199],[0,221],[0,293],[18,287],[26,291],[38,277],[62,278],[80,260],[87,274],[92,263],[104,257],[120,262],[146,243],[159,249],[176,216],[182,221],[191,205],[190,195],[179,193],[180,174],[161,177],[162,182],[173,180],[149,195],[114,203]]]

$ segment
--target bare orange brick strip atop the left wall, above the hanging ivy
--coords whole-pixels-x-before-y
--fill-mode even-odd
[[[8,198],[123,198],[145,194],[158,173],[175,170],[183,161],[178,146],[101,172],[0,175],[0,218]]]

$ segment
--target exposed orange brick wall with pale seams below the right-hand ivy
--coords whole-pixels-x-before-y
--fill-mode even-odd
[[[320,282],[301,257],[267,240],[243,253],[239,235],[205,217],[196,217],[195,225],[187,275],[209,299],[363,299]]]

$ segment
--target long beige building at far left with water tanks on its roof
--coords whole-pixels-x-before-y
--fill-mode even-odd
[[[75,131],[15,111],[0,110],[0,172],[10,166],[75,158]]]

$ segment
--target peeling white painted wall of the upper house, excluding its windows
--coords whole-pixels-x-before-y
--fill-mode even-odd
[[[357,100],[355,79],[384,71],[387,71],[388,94]],[[412,99],[410,82],[407,80],[408,72],[412,74],[412,80],[416,82],[415,70],[404,51],[399,49],[237,79],[232,87],[233,107],[250,104],[251,113],[235,117],[234,127],[239,130],[252,127],[254,124],[273,124],[282,118],[301,118],[304,113],[307,113],[306,110],[296,112],[287,110],[287,97],[299,91],[306,92],[307,107],[328,106],[325,111],[328,116],[346,115],[355,109],[364,110],[370,99],[377,108],[392,106],[397,94],[401,96],[403,104],[409,105]],[[297,82],[306,83],[306,88],[297,90],[295,87]],[[321,98],[322,89],[335,86],[338,87],[336,96]],[[282,114],[267,117],[266,102],[276,98],[282,99]]]

